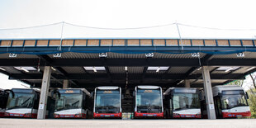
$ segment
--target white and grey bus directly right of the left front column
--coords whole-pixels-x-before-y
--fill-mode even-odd
[[[85,88],[58,89],[55,118],[92,118],[93,100]]]

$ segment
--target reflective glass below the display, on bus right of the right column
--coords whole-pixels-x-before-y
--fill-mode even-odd
[[[238,95],[223,95],[221,98],[223,109],[230,109],[233,107],[248,106],[244,94]]]

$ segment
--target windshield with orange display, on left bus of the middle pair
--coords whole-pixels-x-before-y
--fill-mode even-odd
[[[118,90],[97,90],[95,112],[118,113],[120,102],[120,92]]]

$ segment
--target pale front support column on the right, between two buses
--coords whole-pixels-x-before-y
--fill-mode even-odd
[[[211,77],[208,66],[202,66],[202,78],[204,84],[204,92],[206,99],[206,108],[208,119],[216,119],[216,113],[213,102],[213,95],[211,90]]]

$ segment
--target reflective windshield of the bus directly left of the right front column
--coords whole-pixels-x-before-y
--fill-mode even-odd
[[[197,93],[174,93],[173,110],[188,108],[200,108],[199,96]]]

